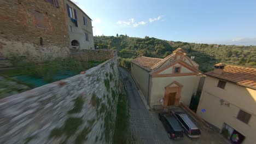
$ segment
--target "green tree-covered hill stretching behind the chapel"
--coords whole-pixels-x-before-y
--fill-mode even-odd
[[[195,44],[182,41],[167,41],[156,38],[135,38],[127,35],[96,36],[95,47],[118,50],[119,62],[130,68],[130,61],[140,56],[164,58],[181,47],[188,56],[195,56],[203,72],[213,69],[219,62],[256,68],[256,46]]]

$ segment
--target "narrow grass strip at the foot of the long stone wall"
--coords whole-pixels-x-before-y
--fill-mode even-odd
[[[119,95],[117,104],[117,118],[115,120],[115,131],[113,143],[126,143],[129,136],[129,106],[127,96]]]

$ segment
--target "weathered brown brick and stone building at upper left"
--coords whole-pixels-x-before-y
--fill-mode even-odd
[[[0,1],[0,56],[36,61],[69,53],[66,5],[62,0]]]

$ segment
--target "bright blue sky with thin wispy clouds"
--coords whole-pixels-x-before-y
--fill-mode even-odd
[[[255,0],[72,1],[91,17],[94,35],[256,45]]]

